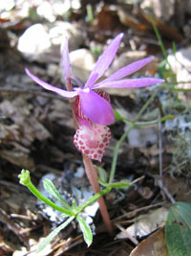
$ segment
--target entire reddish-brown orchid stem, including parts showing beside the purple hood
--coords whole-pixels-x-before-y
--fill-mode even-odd
[[[67,84],[67,90],[68,91],[72,91],[73,90],[73,85],[71,83],[71,80],[68,79],[68,81],[66,82]],[[73,112],[73,119],[74,119],[74,128],[77,129],[77,122],[75,119],[75,115],[74,115],[74,99],[69,99],[70,104],[71,104],[71,108],[72,108],[72,112]],[[100,192],[100,187],[99,187],[99,183],[98,183],[98,177],[96,174],[96,170],[95,167],[93,165],[93,162],[91,159],[89,159],[85,154],[83,155],[83,162],[84,162],[84,167],[86,170],[86,175],[88,176],[88,179],[90,181],[90,184],[93,187],[93,190],[96,193]],[[99,210],[102,216],[102,219],[105,223],[105,226],[109,232],[109,234],[113,234],[113,227],[112,227],[112,223],[110,221],[110,216],[108,214],[108,210],[104,201],[103,197],[100,197],[97,199],[98,204],[99,204]]]

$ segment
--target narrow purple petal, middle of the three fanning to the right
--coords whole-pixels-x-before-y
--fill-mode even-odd
[[[153,59],[154,59],[154,57],[139,59],[138,61],[135,61],[135,62],[133,62],[133,63],[127,65],[127,66],[124,66],[124,67],[120,68],[119,70],[117,70],[117,72],[112,74],[109,78],[107,78],[107,79],[105,79],[101,82],[117,81],[117,80],[122,79],[126,76],[129,76],[129,75],[135,73],[136,71],[138,71],[138,69],[147,65]]]

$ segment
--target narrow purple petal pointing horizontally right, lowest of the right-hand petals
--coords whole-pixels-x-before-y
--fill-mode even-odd
[[[108,82],[100,82],[94,85],[94,89],[98,88],[125,88],[125,87],[145,87],[154,85],[156,83],[163,82],[164,80],[160,79],[131,79],[131,80],[120,80],[120,81],[108,81]]]

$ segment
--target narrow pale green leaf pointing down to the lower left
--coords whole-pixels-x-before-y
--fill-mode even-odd
[[[70,224],[74,220],[74,216],[70,217],[67,221],[63,222],[61,225],[57,226],[53,232],[49,234],[48,237],[46,237],[42,243],[39,244],[37,253],[43,250],[48,244],[50,244],[55,236],[64,229],[68,224]]]

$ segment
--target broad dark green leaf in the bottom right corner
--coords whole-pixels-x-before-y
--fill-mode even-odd
[[[176,202],[165,223],[165,239],[170,256],[190,256],[191,203]]]

